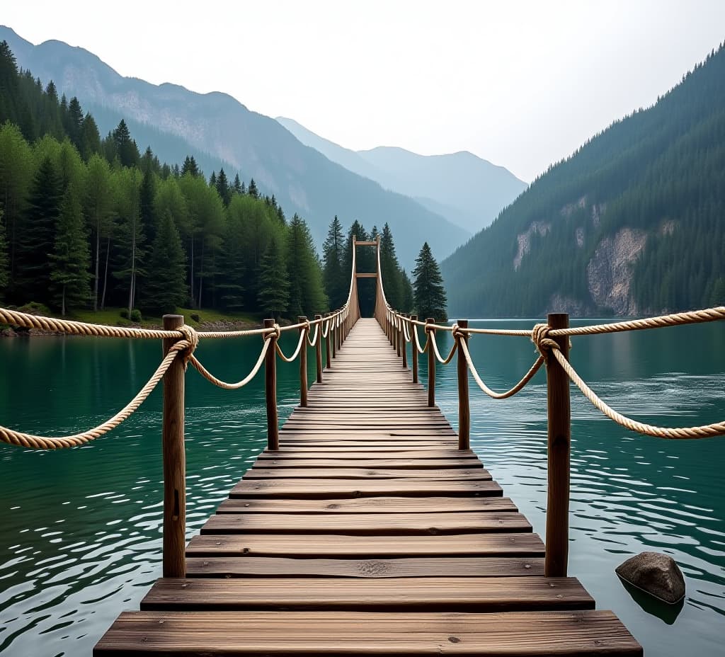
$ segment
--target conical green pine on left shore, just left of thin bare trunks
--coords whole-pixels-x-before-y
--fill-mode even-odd
[[[51,292],[65,316],[68,307],[85,305],[91,296],[91,252],[78,196],[70,187],[63,196],[50,255]]]

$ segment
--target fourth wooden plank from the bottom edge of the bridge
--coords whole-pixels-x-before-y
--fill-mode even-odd
[[[537,534],[453,536],[357,536],[339,534],[202,534],[191,539],[188,556],[228,555],[392,558],[406,556],[542,556]]]

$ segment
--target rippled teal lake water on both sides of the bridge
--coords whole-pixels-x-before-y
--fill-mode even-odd
[[[293,343],[287,336],[283,346],[291,350]],[[237,380],[259,346],[258,339],[206,341],[197,354],[222,378]],[[497,389],[518,381],[534,360],[533,349],[523,338],[471,340],[479,371]],[[723,323],[581,337],[571,359],[622,413],[669,426],[725,418]],[[123,406],[159,360],[155,341],[0,340],[0,424],[38,434],[86,429]],[[278,368],[286,417],[299,394],[297,365]],[[437,401],[455,424],[455,367],[439,367],[436,376]],[[505,401],[489,400],[471,381],[473,447],[542,535],[545,402],[542,373]],[[190,370],[186,409],[191,536],[265,445],[262,377],[225,392]],[[599,608],[624,619],[647,655],[723,655],[725,438],[639,437],[600,416],[574,389],[572,413],[570,573]],[[160,418],[157,391],[127,423],[85,447],[32,452],[0,445],[3,656],[90,655],[117,613],[138,608],[159,577]],[[614,574],[618,563],[641,550],[669,553],[684,571],[687,598],[676,618],[646,603],[642,608]]]

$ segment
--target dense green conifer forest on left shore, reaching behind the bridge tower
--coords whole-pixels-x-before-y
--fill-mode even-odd
[[[183,165],[141,154],[123,120],[101,139],[77,98],[58,97],[17,69],[0,44],[0,298],[68,310],[125,307],[128,316],[179,306],[275,317],[313,315],[347,299],[350,240],[375,239],[335,217],[321,262],[307,224],[287,219],[274,196],[209,180],[194,157]],[[392,301],[412,305],[389,227],[382,266]],[[358,270],[376,268],[359,249]],[[370,313],[374,287],[363,286]]]

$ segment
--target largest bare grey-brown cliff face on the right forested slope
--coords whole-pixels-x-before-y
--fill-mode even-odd
[[[645,247],[647,234],[635,228],[621,228],[615,236],[597,245],[587,265],[589,294],[597,307],[611,308],[616,315],[637,315],[629,294],[634,262]]]

